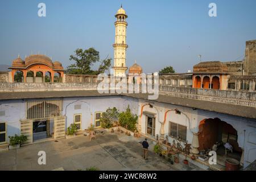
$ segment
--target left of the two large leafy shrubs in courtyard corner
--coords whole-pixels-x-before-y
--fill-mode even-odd
[[[109,129],[110,127],[113,127],[113,124],[118,121],[118,110],[117,108],[113,107],[110,109],[110,107],[102,113],[102,116],[100,118],[101,127],[104,129]]]

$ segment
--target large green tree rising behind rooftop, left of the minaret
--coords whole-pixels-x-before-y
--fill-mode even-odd
[[[85,50],[81,48],[76,49],[75,55],[71,55],[69,60],[75,61],[75,64],[69,65],[67,73],[76,75],[98,75],[109,69],[112,59],[107,56],[104,60],[100,60],[100,52],[91,47]],[[92,70],[95,63],[100,63],[96,71]]]

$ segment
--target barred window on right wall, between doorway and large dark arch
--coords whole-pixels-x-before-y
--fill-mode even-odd
[[[187,126],[169,122],[169,137],[187,141]]]

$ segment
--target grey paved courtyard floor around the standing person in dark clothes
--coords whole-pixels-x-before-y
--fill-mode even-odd
[[[89,167],[100,170],[201,170],[193,164],[171,165],[152,152],[152,142],[149,142],[148,160],[144,160],[139,143],[142,140],[108,133],[92,141],[81,136],[30,144],[16,150],[0,151],[0,170],[85,170]],[[46,152],[46,165],[38,164],[39,151]]]

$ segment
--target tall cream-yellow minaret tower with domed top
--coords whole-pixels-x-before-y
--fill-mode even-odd
[[[127,22],[126,18],[128,16],[125,13],[125,10],[121,8],[115,14],[115,43],[114,47],[114,76],[125,76],[126,75],[126,27]]]

